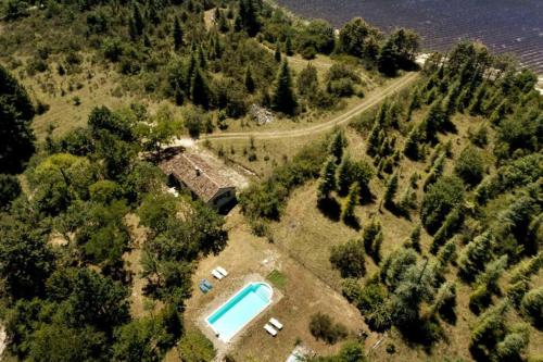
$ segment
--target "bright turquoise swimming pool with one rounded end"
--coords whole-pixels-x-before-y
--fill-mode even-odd
[[[272,303],[274,289],[266,283],[251,283],[210,314],[205,322],[218,339],[228,342]]]

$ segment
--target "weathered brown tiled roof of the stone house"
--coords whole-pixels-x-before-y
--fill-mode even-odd
[[[200,157],[187,152],[179,153],[160,164],[166,174],[174,175],[204,202],[209,202],[222,188],[233,185],[220,176]]]

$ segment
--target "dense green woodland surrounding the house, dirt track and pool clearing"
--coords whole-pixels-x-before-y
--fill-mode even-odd
[[[2,7],[0,319],[14,360],[159,361],[177,345],[186,361],[211,361],[210,342],[184,327],[185,301],[199,259],[226,247],[225,221],[189,196],[160,192],[162,147],[181,134],[226,129],[251,104],[283,122],[333,109],[342,98],[364,97],[356,68],[393,77],[416,68],[419,50],[409,30],[386,35],[355,18],[336,36],[325,21],[302,22],[261,0]],[[334,64],[324,78],[311,63],[293,74],[292,54],[326,54]],[[48,92],[65,95],[77,84],[56,88],[48,77],[92,78],[93,66],[115,70],[123,91],[168,100],[182,120],[167,107],[97,104],[87,126],[55,137],[51,129],[37,141],[31,122],[49,105],[21,79],[41,77]],[[365,138],[367,161],[350,157],[338,129],[243,191],[241,212],[255,234],[272,239],[268,224],[281,219],[291,192],[315,182],[315,208],[359,232],[330,249],[330,263],[371,332],[394,328],[431,349],[446,340],[444,326],[458,317],[457,288],[468,286],[473,360],[540,361],[525,353],[543,328],[543,288],[533,282],[543,263],[536,77],[471,42],[433,54],[420,73],[408,91],[350,124]],[[459,115],[484,123],[466,145],[444,141]],[[406,164],[425,171],[401,174]],[[381,251],[392,241],[383,239],[379,214],[356,216],[369,204],[413,221],[409,239],[395,240],[392,254]],[[161,305],[144,317],[130,314],[135,275],[123,259],[136,233],[146,239],[144,292]],[[421,233],[432,238],[428,248]],[[370,275],[369,264],[378,272]],[[310,328],[324,340],[345,335],[321,315]],[[348,341],[338,355],[316,361],[365,361],[361,346]]]

